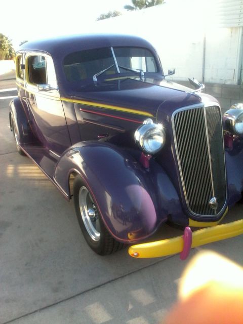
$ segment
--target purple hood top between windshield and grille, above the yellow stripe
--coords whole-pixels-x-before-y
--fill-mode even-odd
[[[157,116],[157,110],[166,104],[171,112],[175,108],[201,102],[191,89],[166,79],[118,78],[90,84],[72,93],[75,100],[82,99],[101,104],[139,109]]]

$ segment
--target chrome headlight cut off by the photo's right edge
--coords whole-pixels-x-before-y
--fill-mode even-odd
[[[224,114],[229,131],[234,135],[243,135],[243,104],[237,103]]]

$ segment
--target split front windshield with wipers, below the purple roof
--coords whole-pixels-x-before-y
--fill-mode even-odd
[[[136,76],[136,70],[157,72],[155,59],[147,49],[116,47],[113,48],[113,52],[114,56],[112,48],[101,48],[68,54],[63,63],[67,80],[69,82],[90,81],[93,80],[94,75],[101,76],[100,72],[103,72],[102,79],[115,73]]]

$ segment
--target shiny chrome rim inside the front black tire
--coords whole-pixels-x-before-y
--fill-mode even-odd
[[[100,221],[94,200],[86,187],[80,187],[78,201],[85,228],[92,240],[97,242],[100,239]]]

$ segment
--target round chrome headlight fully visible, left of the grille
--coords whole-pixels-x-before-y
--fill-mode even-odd
[[[144,120],[134,134],[135,142],[147,154],[155,154],[164,145],[166,133],[161,124],[153,124],[152,119]]]

